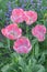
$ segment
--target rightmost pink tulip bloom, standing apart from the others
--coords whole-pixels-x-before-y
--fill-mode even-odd
[[[32,33],[38,39],[38,41],[44,41],[46,34],[46,27],[37,24],[35,28],[32,29]]]

